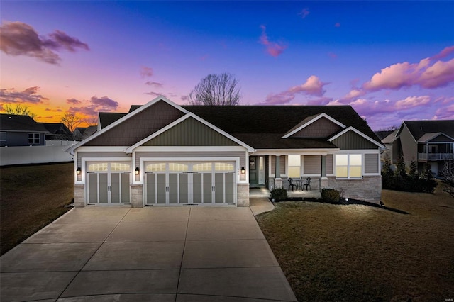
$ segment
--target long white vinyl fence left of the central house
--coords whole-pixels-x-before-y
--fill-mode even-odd
[[[0,147],[0,166],[72,162],[72,155],[65,150],[77,141],[46,140],[45,143],[45,146]]]

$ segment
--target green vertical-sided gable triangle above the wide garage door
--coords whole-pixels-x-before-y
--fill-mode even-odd
[[[187,118],[178,125],[157,135],[144,146],[236,146],[233,140],[200,123]]]

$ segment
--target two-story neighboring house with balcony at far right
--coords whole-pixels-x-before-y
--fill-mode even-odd
[[[454,160],[454,120],[403,121],[399,129],[383,140],[392,163],[403,155],[407,167],[418,162],[431,165],[434,176],[439,176],[446,160]]]

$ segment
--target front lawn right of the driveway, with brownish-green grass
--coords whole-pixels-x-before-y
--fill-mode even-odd
[[[382,208],[277,203],[258,223],[299,301],[454,298],[454,198],[384,190]]]

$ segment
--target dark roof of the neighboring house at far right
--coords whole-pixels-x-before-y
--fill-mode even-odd
[[[442,121],[404,121],[411,135],[417,141],[426,133],[444,133],[454,138],[454,120]],[[400,133],[399,133],[400,134]]]

